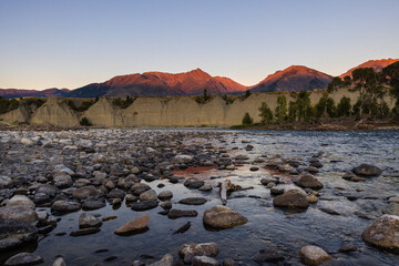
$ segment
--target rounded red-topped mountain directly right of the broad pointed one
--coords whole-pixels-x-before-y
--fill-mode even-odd
[[[313,91],[326,89],[332,76],[304,65],[291,65],[268,75],[253,86],[253,92]]]

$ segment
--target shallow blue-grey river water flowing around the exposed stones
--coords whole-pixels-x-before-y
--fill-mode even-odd
[[[166,130],[167,131],[167,130]],[[174,130],[170,130],[174,131]],[[190,131],[190,130],[187,130]],[[101,209],[91,211],[103,217],[115,215],[116,219],[104,222],[101,232],[80,237],[71,237],[69,233],[79,228],[79,215],[83,212],[62,215],[58,226],[47,236],[40,236],[37,246],[24,249],[34,252],[51,265],[59,255],[68,265],[131,265],[133,260],[145,262],[147,257],[158,260],[166,253],[177,257],[180,245],[185,243],[216,242],[221,248],[218,259],[234,258],[241,265],[256,265],[252,257],[262,248],[273,248],[285,257],[283,264],[300,265],[298,250],[304,245],[316,245],[329,253],[340,265],[399,265],[399,255],[369,246],[361,239],[362,231],[381,215],[387,206],[387,198],[399,195],[399,132],[304,132],[304,131],[225,131],[224,140],[194,139],[185,144],[209,143],[224,147],[234,157],[247,154],[249,164],[237,166],[235,171],[218,171],[216,167],[188,168],[176,171],[175,175],[198,177],[215,185],[228,177],[234,184],[253,190],[234,192],[229,195],[227,206],[248,218],[248,223],[229,229],[212,231],[204,227],[202,217],[206,208],[221,204],[218,190],[200,192],[188,190],[182,183],[171,184],[167,180],[147,183],[156,192],[170,190],[173,203],[182,209],[196,209],[197,217],[168,219],[157,214],[158,206],[151,211],[134,212],[123,203],[119,208],[106,205]],[[252,151],[244,147],[248,141]],[[233,147],[238,147],[233,150]],[[275,174],[265,167],[265,163],[256,164],[259,171],[252,172],[253,161],[264,156],[308,160],[323,152],[323,167],[316,177],[324,184],[319,191],[319,201],[310,204],[306,212],[291,213],[273,206],[269,188],[260,184],[260,178]],[[367,182],[348,182],[341,178],[346,171],[369,163],[382,170],[379,177]],[[212,177],[212,178],[211,178]],[[166,186],[158,188],[162,183]],[[359,192],[358,192],[359,191]],[[207,203],[201,206],[177,204],[178,200],[190,196],[204,196]],[[348,196],[356,196],[349,201]],[[331,208],[340,215],[321,212],[320,207]],[[47,209],[49,208],[40,208]],[[117,236],[113,232],[123,224],[144,214],[150,215],[150,229],[132,236]],[[184,234],[172,235],[187,221],[191,228]],[[58,233],[66,233],[57,236]],[[337,250],[345,245],[359,247],[359,252],[344,254]],[[108,249],[104,253],[95,253]],[[20,252],[20,250],[19,250]],[[7,254],[6,257],[11,255]],[[3,255],[4,256],[4,255]],[[111,262],[106,257],[116,256]]]

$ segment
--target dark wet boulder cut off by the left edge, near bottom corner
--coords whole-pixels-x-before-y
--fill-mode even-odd
[[[34,241],[38,229],[31,224],[0,219],[0,250],[11,249]]]

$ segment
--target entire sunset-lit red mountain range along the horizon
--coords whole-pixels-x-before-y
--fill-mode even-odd
[[[370,60],[359,64],[339,76],[350,75],[358,68],[382,68],[399,61],[399,59]],[[208,94],[242,94],[246,90],[252,92],[276,91],[311,91],[326,89],[332,76],[304,65],[291,65],[277,71],[253,86],[242,85],[228,78],[212,76],[201,69],[184,73],[145,72],[127,75],[117,75],[102,83],[91,83],[85,86],[68,89],[18,90],[0,89],[0,96],[68,96],[68,98],[95,98],[95,96],[175,96],[201,95],[206,89]]]

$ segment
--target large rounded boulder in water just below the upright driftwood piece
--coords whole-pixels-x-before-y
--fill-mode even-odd
[[[244,225],[248,219],[229,207],[217,205],[205,211],[203,222],[213,228],[224,229]]]

